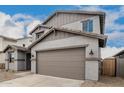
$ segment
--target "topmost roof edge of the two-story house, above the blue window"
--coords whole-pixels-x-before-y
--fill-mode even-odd
[[[73,13],[73,14],[87,14],[87,15],[98,15],[100,16],[100,27],[101,27],[101,34],[104,33],[104,26],[105,26],[105,12],[101,11],[81,11],[81,10],[59,10],[54,12],[52,15],[50,15],[42,24],[45,25],[53,16],[55,16],[58,13]]]

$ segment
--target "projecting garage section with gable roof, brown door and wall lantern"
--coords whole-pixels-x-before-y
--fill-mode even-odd
[[[99,47],[104,44],[101,37],[104,39],[103,36],[54,28],[29,46],[31,72],[77,80],[98,80]]]

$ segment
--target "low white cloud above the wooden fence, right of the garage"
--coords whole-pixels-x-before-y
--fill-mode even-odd
[[[106,47],[106,48],[102,48],[101,49],[101,57],[107,58],[107,57],[112,57],[113,55],[115,55],[116,53],[120,52],[121,50],[124,50],[124,47]]]

